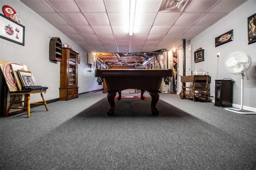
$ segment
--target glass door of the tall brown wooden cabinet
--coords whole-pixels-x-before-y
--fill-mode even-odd
[[[68,85],[70,87],[76,86],[76,54],[70,52],[69,53],[69,77],[68,77]]]

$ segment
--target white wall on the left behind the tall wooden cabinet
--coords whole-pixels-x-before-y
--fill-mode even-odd
[[[25,26],[25,46],[1,38],[0,59],[27,64],[28,69],[34,75],[37,85],[49,88],[44,95],[46,100],[59,98],[60,62],[49,60],[50,37],[55,36],[60,37],[62,43],[68,43],[74,51],[80,53],[78,93],[102,89],[102,86],[96,82],[94,71],[88,72],[90,68],[87,67],[86,51],[19,0],[0,0],[1,9],[4,5],[14,8],[18,13],[18,19]],[[1,14],[3,14],[2,10]],[[38,99],[40,99],[40,95],[33,95],[33,101]]]

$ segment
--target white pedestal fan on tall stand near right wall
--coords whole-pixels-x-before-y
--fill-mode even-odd
[[[225,59],[225,69],[228,72],[235,75],[241,74],[241,108],[225,108],[225,110],[239,114],[256,114],[256,112],[242,111],[244,101],[244,72],[249,69],[251,62],[250,56],[242,51],[231,53]]]

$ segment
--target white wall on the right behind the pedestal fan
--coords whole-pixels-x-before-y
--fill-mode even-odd
[[[240,105],[240,87],[241,76],[228,73],[224,67],[226,57],[234,51],[244,51],[252,58],[252,65],[247,71],[249,80],[244,77],[244,106],[256,107],[256,43],[248,45],[247,43],[247,18],[256,13],[256,0],[249,0],[228,16],[218,21],[216,24],[202,32],[196,38],[191,40],[191,55],[192,55],[192,71],[195,65],[198,66],[198,71],[206,70],[211,76],[210,90],[211,95],[215,96],[215,81],[216,79],[231,78],[235,81],[233,103]],[[230,31],[234,31],[234,40],[215,47],[215,38]],[[198,48],[204,49],[204,61],[199,63],[194,62],[193,52]],[[220,57],[216,57],[220,52]],[[214,99],[214,97],[212,98]]]

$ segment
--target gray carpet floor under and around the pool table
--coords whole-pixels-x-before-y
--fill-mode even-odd
[[[1,117],[0,169],[255,170],[256,115],[160,94],[152,116],[144,95],[115,99],[112,117],[102,92]]]

